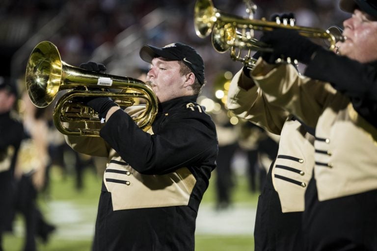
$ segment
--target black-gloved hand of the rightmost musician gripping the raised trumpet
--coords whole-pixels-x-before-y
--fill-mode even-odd
[[[287,57],[308,64],[314,52],[324,50],[292,29],[281,28],[265,32],[260,41],[270,45],[273,50],[262,53],[262,58],[270,64],[275,63],[278,58]]]

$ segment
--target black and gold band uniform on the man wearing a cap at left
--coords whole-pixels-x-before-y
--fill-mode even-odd
[[[76,151],[108,157],[94,250],[194,250],[195,219],[217,155],[215,125],[196,98],[159,103],[148,133],[131,118],[142,110],[131,106],[131,116],[118,110],[110,117],[101,138],[67,137]]]

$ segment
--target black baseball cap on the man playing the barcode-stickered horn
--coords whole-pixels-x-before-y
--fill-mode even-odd
[[[145,62],[152,62],[155,57],[183,61],[194,73],[199,83],[204,83],[204,63],[202,57],[191,46],[182,43],[173,43],[162,48],[143,45],[139,55]]]

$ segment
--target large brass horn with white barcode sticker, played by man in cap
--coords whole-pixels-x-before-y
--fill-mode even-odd
[[[106,88],[117,92],[108,92]],[[69,65],[61,60],[56,46],[49,41],[40,42],[29,56],[26,89],[31,102],[40,108],[51,104],[59,91],[72,89],[57,100],[53,111],[57,130],[70,136],[99,137],[101,121],[93,109],[79,101],[83,97],[109,97],[121,107],[144,100],[145,111],[134,118],[144,131],[151,127],[158,110],[155,93],[143,81]],[[67,123],[73,128],[66,127]]]

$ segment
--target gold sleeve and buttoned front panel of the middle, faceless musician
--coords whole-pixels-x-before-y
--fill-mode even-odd
[[[257,86],[244,90],[242,83],[252,81],[240,70],[232,79],[227,105],[238,117],[280,135],[278,156],[272,167],[272,183],[279,195],[282,212],[300,212],[314,166],[314,137],[280,106],[271,105]],[[278,166],[278,168],[276,168]]]

